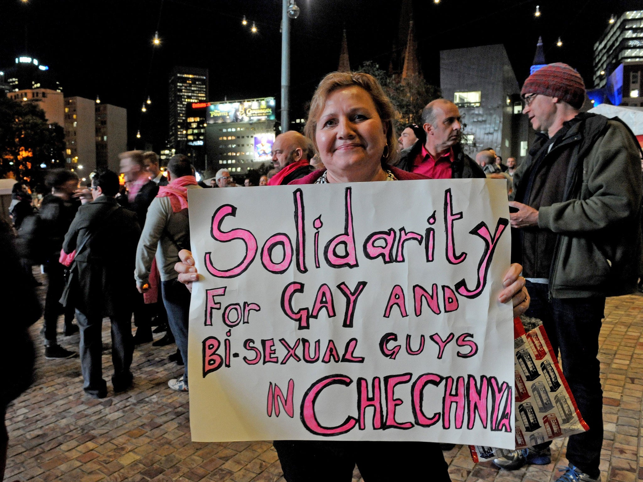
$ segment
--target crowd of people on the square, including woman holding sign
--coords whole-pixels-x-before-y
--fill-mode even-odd
[[[511,302],[515,316],[526,312],[543,321],[590,427],[570,437],[569,465],[558,480],[593,482],[600,475],[597,351],[605,297],[634,292],[642,271],[642,152],[618,119],[580,112],[583,79],[566,64],[533,73],[521,95],[523,113],[538,139],[520,166],[514,157],[504,165],[491,148],[478,152],[475,160],[467,156],[455,103],[429,103],[422,125],[408,125],[398,138],[394,107],[375,78],[331,73],[312,97],[305,135],[289,131],[276,136],[273,172],[258,179],[249,175],[244,186],[505,179],[514,263],[500,280],[498,299]],[[164,338],[176,342],[176,360],[184,367],[168,386],[188,391],[189,290],[199,273],[190,252],[187,192],[207,186],[197,183],[193,166],[182,155],[172,157],[161,173],[156,154],[124,152],[120,170],[125,188],[116,173],[104,170],[93,175],[88,190],[78,188],[73,172],[52,170],[46,178],[51,193],[43,197],[37,214],[28,206],[24,185],[15,188],[15,265],[25,280],[34,264],[44,265],[47,273],[46,358],[75,355],[57,343],[60,314],[65,314],[64,335],[80,328],[87,395],[107,396],[101,367],[104,317],[111,321],[114,391],[131,387],[134,346],[152,341],[152,326],[163,323]],[[221,169],[211,186],[236,184]],[[38,316],[32,314],[25,325]],[[507,470],[548,464],[549,443],[494,463]],[[348,481],[356,464],[367,482],[421,479],[427,467],[433,478],[449,480],[442,451],[434,443],[276,440],[274,445],[289,482]]]

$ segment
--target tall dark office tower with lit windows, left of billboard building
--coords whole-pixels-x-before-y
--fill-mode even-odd
[[[170,149],[184,152],[188,141],[187,108],[208,99],[208,69],[174,67],[169,85],[168,143]],[[194,130],[194,128],[192,128]]]

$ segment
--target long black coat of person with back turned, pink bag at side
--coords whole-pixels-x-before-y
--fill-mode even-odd
[[[114,206],[116,210],[109,212]],[[60,302],[75,303],[88,317],[131,311],[132,297],[136,296],[133,273],[140,235],[136,215],[119,206],[113,197],[100,196],[80,206],[62,249],[66,254],[80,246],[82,249],[70,267],[68,287]]]

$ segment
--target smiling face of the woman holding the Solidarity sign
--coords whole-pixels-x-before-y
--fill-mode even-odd
[[[357,86],[328,96],[315,136],[321,161],[331,174],[379,166],[386,145],[386,130],[375,103]]]

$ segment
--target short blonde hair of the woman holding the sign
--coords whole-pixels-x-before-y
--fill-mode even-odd
[[[377,79],[370,74],[363,72],[331,72],[325,76],[312,96],[311,109],[308,112],[308,120],[303,129],[304,134],[311,139],[315,150],[319,152],[315,132],[317,130],[317,121],[321,116],[328,96],[339,89],[354,86],[361,87],[370,95],[375,104],[377,114],[386,129],[388,151],[385,153],[386,156],[382,156],[382,165],[394,164],[397,156],[397,136],[393,127],[393,120],[396,114],[395,107],[393,107],[390,99],[382,90]]]

